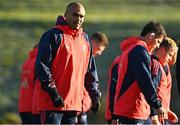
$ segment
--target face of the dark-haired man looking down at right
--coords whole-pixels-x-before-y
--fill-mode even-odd
[[[152,36],[149,38],[148,48],[150,53],[153,53],[155,49],[159,48],[163,38],[164,38],[163,36],[159,36],[159,37]]]

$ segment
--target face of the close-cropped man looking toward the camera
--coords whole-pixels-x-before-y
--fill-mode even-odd
[[[65,13],[65,19],[70,28],[78,30],[84,22],[85,9],[82,6],[73,6]]]

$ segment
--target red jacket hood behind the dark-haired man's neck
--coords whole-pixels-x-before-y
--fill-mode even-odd
[[[120,49],[125,51],[130,47],[134,46],[135,44],[143,45],[147,49],[147,45],[144,41],[139,39],[138,37],[128,37],[123,42],[120,43]]]

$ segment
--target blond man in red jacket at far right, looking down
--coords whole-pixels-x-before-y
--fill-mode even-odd
[[[170,98],[172,78],[170,72],[170,65],[176,62],[178,47],[175,41],[166,37],[160,44],[160,48],[152,56],[152,76],[155,80],[155,87],[157,88],[158,98],[162,101],[163,107],[167,110],[167,118],[159,119],[156,112],[152,109],[151,121],[152,124],[170,124],[177,123],[178,117],[170,110]]]

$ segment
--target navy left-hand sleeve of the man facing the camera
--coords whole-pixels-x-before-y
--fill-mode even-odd
[[[51,64],[58,46],[61,43],[60,35],[54,35],[56,32],[58,33],[57,29],[51,29],[45,32],[38,45],[38,54],[35,65],[36,78],[40,80],[41,87],[45,90],[47,90],[51,83],[55,86],[51,74]]]

